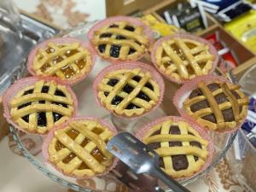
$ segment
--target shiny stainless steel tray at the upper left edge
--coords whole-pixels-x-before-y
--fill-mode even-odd
[[[19,23],[11,20],[12,18],[8,11],[0,7],[0,38],[3,39],[0,44],[0,96],[9,87],[15,71],[26,62],[32,47],[59,32],[59,29],[27,15],[19,15]],[[13,25],[14,23],[17,25]]]

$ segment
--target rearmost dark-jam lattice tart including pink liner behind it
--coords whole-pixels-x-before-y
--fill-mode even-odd
[[[137,61],[148,51],[150,44],[145,27],[135,18],[108,18],[96,24],[90,41],[98,55],[105,59]]]

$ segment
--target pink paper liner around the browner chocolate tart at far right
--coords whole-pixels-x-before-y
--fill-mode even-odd
[[[188,113],[186,113],[186,110],[183,108],[183,102],[189,97],[189,94],[192,92],[192,90],[195,90],[196,88],[198,88],[199,82],[203,81],[207,83],[207,82],[212,82],[214,80],[219,80],[221,82],[233,84],[232,82],[230,82],[230,80],[225,79],[224,77],[221,77],[221,76],[204,75],[204,76],[196,77],[195,79],[192,79],[189,82],[186,82],[185,84],[183,84],[183,86],[179,90],[177,90],[176,94],[173,96],[172,102],[174,103],[174,106],[177,108],[177,111],[181,114],[182,117],[184,117],[185,119],[189,119],[195,124],[199,125],[199,123],[197,123],[195,119],[193,119]],[[247,115],[245,115],[244,119],[242,119],[242,122],[236,125],[236,128],[234,129],[222,130],[222,131],[215,130],[215,131],[225,133],[225,134],[235,132],[241,128],[241,125],[246,120],[246,116]],[[215,132],[211,129],[207,129],[207,130]]]

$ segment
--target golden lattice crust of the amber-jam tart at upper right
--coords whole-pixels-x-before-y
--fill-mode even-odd
[[[194,44],[190,49],[188,44]],[[176,49],[173,49],[175,47]],[[214,55],[208,51],[208,46],[199,44],[193,40],[177,38],[162,43],[157,58],[160,58],[160,68],[164,67],[166,73],[176,73],[181,79],[191,79],[194,76],[207,74],[212,68]],[[163,56],[162,55],[166,55]],[[205,65],[201,65],[205,62]]]

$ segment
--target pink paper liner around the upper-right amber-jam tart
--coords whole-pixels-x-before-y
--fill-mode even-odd
[[[158,41],[156,41],[156,43],[154,44],[154,47],[151,51],[151,61],[154,63],[154,67],[157,68],[157,70],[166,77],[166,79],[177,83],[177,84],[183,84],[185,82],[188,82],[190,79],[182,79],[181,81],[178,81],[177,79],[172,78],[171,76],[167,75],[165,72],[161,71],[160,68],[158,67],[157,63],[156,63],[156,59],[155,59],[155,52],[156,49],[161,45],[162,42],[172,39],[172,38],[189,38],[198,42],[201,42],[202,44],[207,44],[209,46],[209,52],[215,56],[215,60],[212,62],[212,69],[209,71],[208,74],[212,74],[215,70],[215,68],[217,67],[218,64],[218,51],[214,48],[214,46],[209,43],[206,39],[204,38],[199,38],[196,37],[194,35],[190,35],[190,34],[185,34],[185,33],[178,33],[172,36],[167,36],[165,38],[160,38]]]

